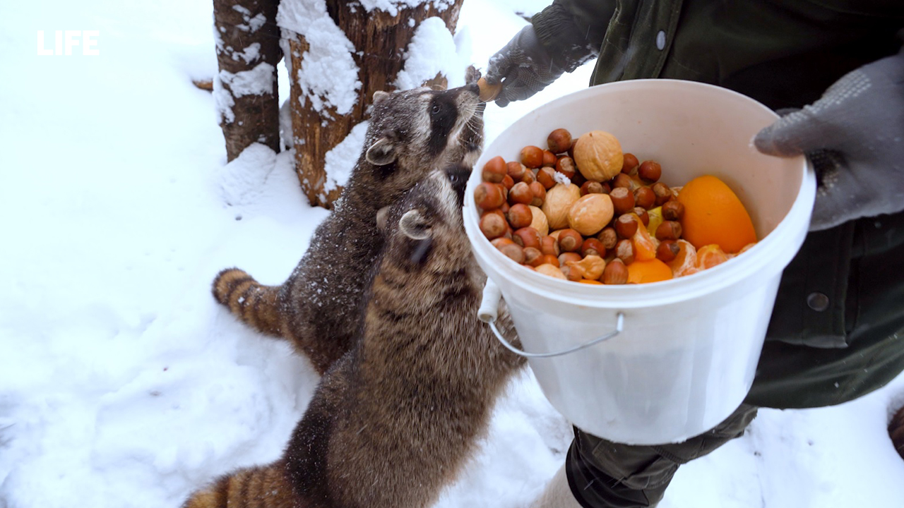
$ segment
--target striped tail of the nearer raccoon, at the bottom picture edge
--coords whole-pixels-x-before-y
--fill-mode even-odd
[[[194,492],[182,508],[300,508],[281,463],[240,469]]]

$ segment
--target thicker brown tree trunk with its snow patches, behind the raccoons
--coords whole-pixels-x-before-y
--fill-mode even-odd
[[[331,208],[342,193],[344,182],[329,174],[327,154],[344,141],[348,149],[340,151],[360,153],[363,129],[354,127],[374,91],[400,88],[405,50],[421,22],[441,19],[451,38],[462,2],[282,0],[278,24],[289,70],[296,172],[311,205]],[[442,73],[424,78],[415,85],[447,87]],[[350,134],[362,139],[346,140]]]

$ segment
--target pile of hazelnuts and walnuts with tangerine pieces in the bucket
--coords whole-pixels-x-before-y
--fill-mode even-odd
[[[670,264],[665,272],[672,278],[730,257],[701,249],[692,252],[695,259],[683,259],[693,247],[682,240],[680,188],[660,182],[658,162],[623,153],[607,132],[573,139],[557,128],[545,149],[524,146],[520,160],[495,156],[481,171],[474,192],[480,230],[509,259],[542,274],[626,284],[639,282],[629,280],[636,261]],[[702,268],[700,254],[711,259]]]

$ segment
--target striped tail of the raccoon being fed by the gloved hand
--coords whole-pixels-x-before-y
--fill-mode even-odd
[[[248,272],[226,268],[213,279],[213,297],[262,334],[282,336],[278,286],[263,286]]]

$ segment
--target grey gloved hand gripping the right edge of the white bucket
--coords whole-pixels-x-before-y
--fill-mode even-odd
[[[904,210],[904,51],[845,74],[754,144],[810,157],[819,183],[810,230]]]

